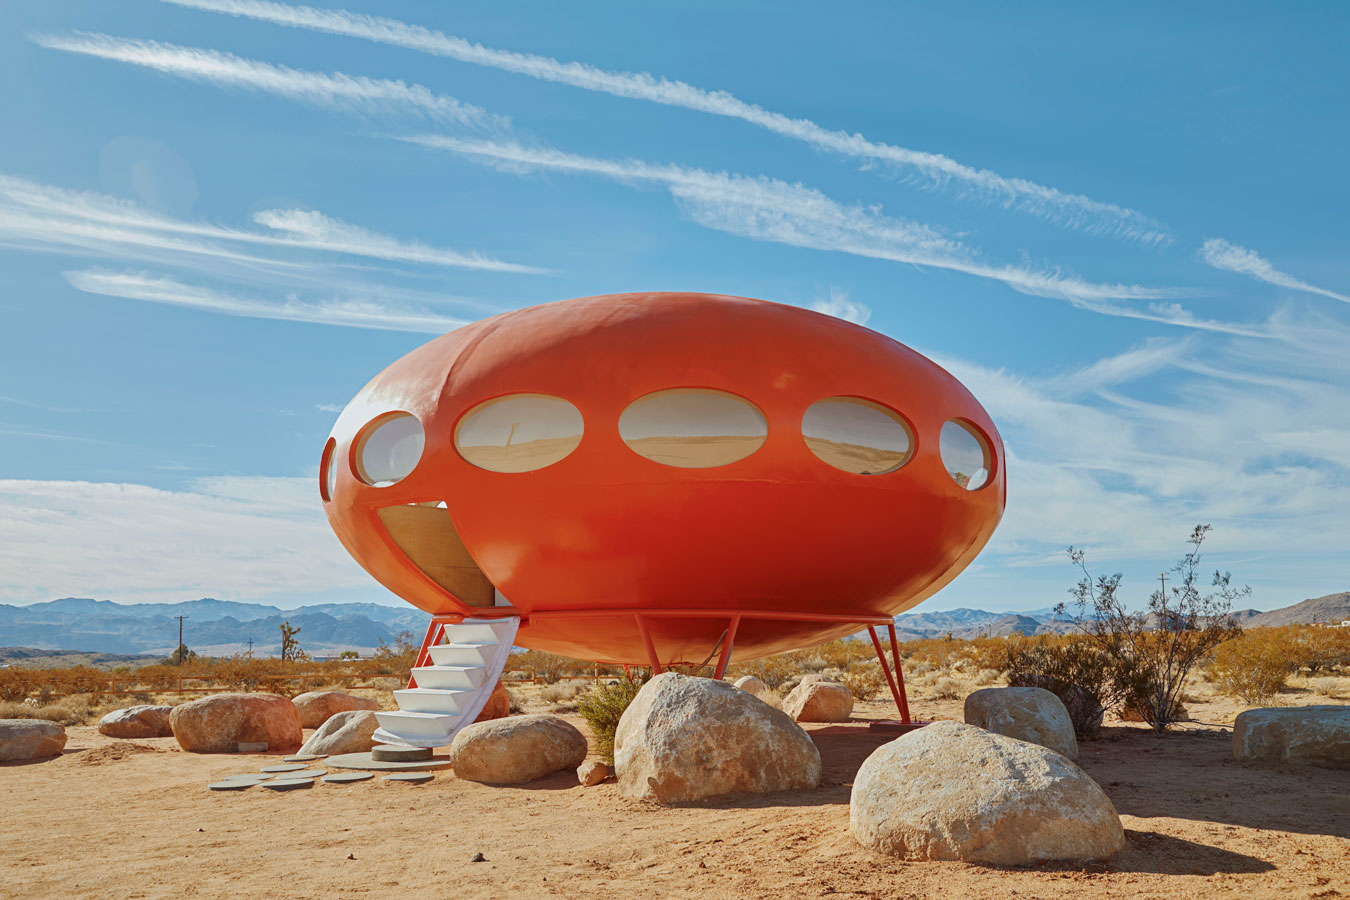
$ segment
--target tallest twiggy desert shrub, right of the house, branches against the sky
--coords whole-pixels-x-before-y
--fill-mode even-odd
[[[1076,623],[1106,653],[1114,667],[1115,688],[1125,703],[1141,711],[1156,731],[1164,731],[1180,714],[1181,685],[1187,675],[1219,644],[1241,633],[1233,619],[1233,600],[1251,594],[1233,587],[1233,576],[1215,572],[1214,588],[1200,592],[1200,548],[1208,525],[1196,525],[1187,542],[1191,551],[1172,567],[1179,584],[1149,596],[1146,611],[1130,611],[1119,596],[1120,573],[1092,578],[1081,549],[1069,548],[1069,560],[1083,578],[1069,592],[1075,598]],[[1057,613],[1062,614],[1065,604]]]

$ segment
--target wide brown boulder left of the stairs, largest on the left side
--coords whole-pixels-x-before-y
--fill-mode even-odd
[[[169,725],[178,746],[192,753],[234,753],[239,743],[294,750],[302,739],[300,710],[277,694],[217,694],[180,703]]]

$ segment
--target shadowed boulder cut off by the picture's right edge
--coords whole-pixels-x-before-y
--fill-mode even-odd
[[[1233,723],[1242,761],[1305,762],[1350,769],[1350,706],[1246,710]]]

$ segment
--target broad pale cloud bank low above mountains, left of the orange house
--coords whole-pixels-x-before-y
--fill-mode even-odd
[[[0,480],[0,596],[258,598],[370,586],[315,478]]]

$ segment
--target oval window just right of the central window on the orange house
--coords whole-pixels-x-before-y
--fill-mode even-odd
[[[856,397],[811,403],[802,416],[802,437],[822,461],[855,475],[894,472],[914,452],[910,429],[899,416]]]

